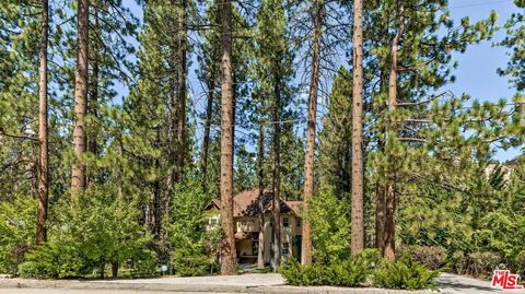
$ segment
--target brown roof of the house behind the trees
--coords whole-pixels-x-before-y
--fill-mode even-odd
[[[269,213],[271,211],[272,197],[273,193],[268,190],[265,190],[260,197],[259,189],[244,190],[233,197],[233,216],[255,216],[259,214],[261,209],[264,213]],[[261,200],[260,202],[259,199]],[[302,201],[287,201],[281,198],[280,204],[281,213],[299,216]],[[221,200],[211,200],[205,209],[210,210],[212,208],[221,210]]]

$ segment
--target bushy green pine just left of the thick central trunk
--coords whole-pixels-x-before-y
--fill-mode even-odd
[[[127,168],[144,179],[129,188],[140,195],[143,221],[154,235],[154,247],[163,262],[167,262],[171,251],[166,228],[177,173],[179,36],[178,26],[173,24],[179,22],[179,14],[176,2],[145,3],[144,27],[139,36],[137,84],[124,101],[121,117],[121,124],[129,128],[129,133],[122,137],[129,161]],[[191,126],[186,124],[185,128],[190,136]],[[190,143],[185,139],[185,144]],[[184,153],[191,155],[186,150]]]

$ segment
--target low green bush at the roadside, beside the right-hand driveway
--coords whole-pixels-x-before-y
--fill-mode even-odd
[[[373,273],[373,283],[386,289],[433,289],[432,279],[438,274],[438,271],[429,270],[405,252],[396,262],[384,260]]]

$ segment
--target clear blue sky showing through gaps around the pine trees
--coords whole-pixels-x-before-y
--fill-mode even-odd
[[[141,9],[135,0],[125,0],[124,2],[129,4],[136,16],[142,19]],[[498,25],[500,26],[516,10],[512,0],[451,0],[448,7],[451,16],[456,23],[464,16],[468,16],[471,23],[487,19],[490,12],[494,10],[499,15]],[[458,68],[453,72],[456,82],[443,90],[450,90],[455,95],[467,93],[479,101],[497,102],[500,98],[512,97],[515,91],[510,87],[508,78],[500,77],[497,73],[498,68],[505,67],[509,57],[506,56],[506,48],[493,46],[493,44],[503,39],[504,36],[505,31],[500,30],[492,39],[469,46],[465,54],[454,54],[453,57],[458,62]],[[205,101],[201,85],[195,74],[195,64],[194,59],[188,79],[194,95],[194,109],[200,111],[203,109]],[[119,92],[122,95],[127,94],[126,89],[119,89]],[[196,122],[201,125],[201,121]],[[197,130],[197,134],[199,130]],[[495,158],[503,162],[518,154],[520,150],[517,149],[499,151]]]

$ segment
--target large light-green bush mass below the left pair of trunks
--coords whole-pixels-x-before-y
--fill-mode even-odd
[[[49,228],[48,242],[26,255],[20,266],[24,278],[93,277],[103,264],[131,262],[128,273],[155,273],[156,257],[148,250],[151,236],[138,223],[132,200],[94,188],[73,203],[54,208],[60,225]],[[98,277],[98,275],[97,275]]]

